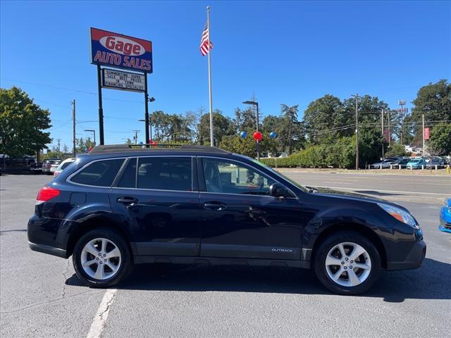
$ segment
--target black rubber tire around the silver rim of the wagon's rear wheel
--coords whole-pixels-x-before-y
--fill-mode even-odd
[[[104,280],[98,280],[92,276],[89,276],[84,268],[82,267],[82,250],[85,245],[92,241],[93,239],[104,238],[113,242],[114,245],[121,252],[121,263],[118,265],[117,272],[109,278]],[[113,285],[122,282],[125,277],[128,276],[132,268],[132,256],[130,249],[121,235],[117,234],[112,230],[107,229],[97,229],[92,230],[84,234],[78,242],[75,244],[72,255],[73,266],[75,268],[75,273],[82,282],[87,284],[89,287],[111,287]],[[105,268],[106,269],[106,268]]]

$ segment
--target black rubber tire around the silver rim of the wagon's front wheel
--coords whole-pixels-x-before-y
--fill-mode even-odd
[[[326,268],[326,257],[329,251],[333,249],[334,246],[337,246],[340,243],[358,244],[366,250],[366,253],[368,253],[369,258],[371,259],[371,269],[369,269],[369,275],[363,282],[361,282],[361,284],[358,284],[356,286],[343,286],[329,277],[328,270]],[[359,260],[363,259],[363,256],[359,257]],[[321,284],[323,284],[330,291],[337,294],[360,294],[362,292],[366,292],[377,280],[378,275],[381,272],[381,256],[379,255],[376,246],[374,246],[371,240],[369,240],[364,235],[352,231],[337,232],[335,234],[330,234],[330,236],[328,236],[323,240],[323,242],[321,242],[318,249],[316,249],[314,253],[314,270],[316,277],[318,277]],[[357,273],[363,273],[364,271],[360,269],[356,270]],[[343,273],[341,275],[342,277],[340,278],[340,281],[345,282],[346,279],[349,280],[349,275],[347,275],[345,270],[342,271]]]

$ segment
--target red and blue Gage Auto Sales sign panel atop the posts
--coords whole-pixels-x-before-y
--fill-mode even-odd
[[[91,63],[152,73],[152,42],[91,28]]]

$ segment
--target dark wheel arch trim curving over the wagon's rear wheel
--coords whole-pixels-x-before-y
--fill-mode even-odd
[[[87,232],[97,229],[111,230],[121,235],[125,240],[125,243],[127,243],[128,249],[130,249],[132,256],[135,255],[136,250],[135,247],[130,244],[130,235],[123,229],[123,227],[121,227],[121,225],[116,222],[116,220],[111,220],[111,218],[106,218],[104,216],[97,216],[79,223],[71,232],[66,249],[67,256],[69,257],[72,255],[73,249],[75,247],[75,244],[78,242],[78,239],[80,239]]]

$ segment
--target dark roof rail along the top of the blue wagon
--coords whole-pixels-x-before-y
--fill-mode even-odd
[[[204,151],[208,153],[230,154],[229,151],[216,148],[215,146],[196,146],[191,144],[108,144],[94,146],[89,154],[115,153],[126,151],[156,151],[156,150],[175,150],[175,151]]]

